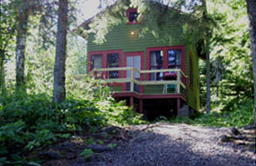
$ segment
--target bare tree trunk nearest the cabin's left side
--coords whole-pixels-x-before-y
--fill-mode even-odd
[[[65,60],[68,0],[59,0],[58,5],[53,101],[56,103],[61,103],[65,99]]]

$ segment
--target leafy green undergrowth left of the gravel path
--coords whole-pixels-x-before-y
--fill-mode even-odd
[[[0,166],[38,165],[25,156],[33,149],[67,139],[84,128],[145,123],[141,116],[116,103],[110,90],[95,80],[84,80],[61,103],[44,94],[7,93],[0,96]]]

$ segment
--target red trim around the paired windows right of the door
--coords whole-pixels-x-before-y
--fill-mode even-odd
[[[175,46],[162,46],[162,47],[150,47],[146,49],[146,70],[150,70],[150,52],[153,50],[163,50],[163,68],[168,69],[168,50],[181,50],[181,70],[185,73],[185,45],[175,45]],[[150,80],[150,74],[146,75],[146,80]]]

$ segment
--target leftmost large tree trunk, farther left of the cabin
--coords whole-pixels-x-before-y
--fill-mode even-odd
[[[16,85],[18,90],[25,90],[24,61],[29,18],[29,3],[23,0],[17,10],[17,49],[16,49]]]

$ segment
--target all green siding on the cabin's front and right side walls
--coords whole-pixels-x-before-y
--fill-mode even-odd
[[[106,42],[102,44],[96,44],[92,41],[94,40],[93,34],[89,35],[88,38],[88,51],[100,51],[100,50],[122,50],[125,52],[136,52],[136,51],[144,51],[145,52],[145,69],[146,69],[146,49],[150,47],[160,47],[160,46],[174,46],[174,45],[185,45],[185,74],[189,75],[189,57],[188,52],[191,50],[192,58],[193,58],[193,72],[194,72],[194,87],[188,89],[188,105],[195,110],[199,110],[199,86],[198,79],[199,76],[199,59],[195,54],[195,51],[192,50],[191,45],[187,45],[185,40],[182,39],[182,27],[180,27],[177,23],[173,23],[172,32],[175,37],[175,40],[171,42],[159,41],[155,37],[152,36],[151,33],[146,34],[144,37],[131,37],[131,30],[138,31],[139,24],[120,24],[114,27],[105,37]],[[124,65],[124,55],[122,55],[122,65]],[[188,83],[189,85],[189,83]],[[189,86],[190,87],[190,86]],[[112,90],[120,91],[122,90],[120,87],[111,87]],[[145,94],[158,93],[161,94],[163,92],[163,85],[156,86],[145,86]],[[184,93],[184,90],[182,91]]]

